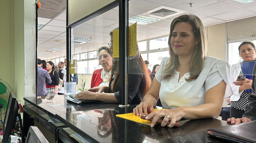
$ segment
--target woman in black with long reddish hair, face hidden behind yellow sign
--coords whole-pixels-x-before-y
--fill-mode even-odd
[[[113,31],[110,32],[110,49],[113,50]],[[128,104],[139,104],[143,95],[148,91],[151,80],[149,77],[147,67],[142,59],[138,45],[135,56],[129,57],[128,65]],[[91,92],[98,91],[98,92]],[[102,93],[104,91],[104,93]],[[104,102],[119,103],[120,98],[124,96],[119,92],[119,59],[113,60],[112,74],[109,86],[94,87],[78,93],[75,98],[80,100],[100,100]],[[120,104],[120,103],[119,103]]]

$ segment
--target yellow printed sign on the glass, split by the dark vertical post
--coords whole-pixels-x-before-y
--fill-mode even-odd
[[[128,56],[137,53],[137,23],[129,26],[128,31]],[[113,30],[113,57],[119,57],[119,29]]]

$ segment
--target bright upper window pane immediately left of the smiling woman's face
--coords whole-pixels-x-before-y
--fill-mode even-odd
[[[168,48],[168,39],[169,39],[169,36],[149,40],[149,50]]]

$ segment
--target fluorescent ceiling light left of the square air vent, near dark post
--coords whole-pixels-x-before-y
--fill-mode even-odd
[[[130,22],[130,23],[135,23],[135,22],[137,22],[137,24],[139,24],[139,25],[146,25],[146,24],[149,24],[149,23],[158,21],[158,20],[161,20],[161,19],[159,19],[159,18],[147,17],[147,16],[141,16],[141,15],[138,15],[138,16],[135,16],[135,17],[132,17],[132,18],[129,18],[129,22]]]

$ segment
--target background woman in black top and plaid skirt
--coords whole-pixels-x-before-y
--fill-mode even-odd
[[[52,80],[51,84],[46,84],[47,96],[53,96],[58,94],[59,74],[52,61],[48,61],[46,63],[46,68],[48,69],[48,73],[50,74]]]

